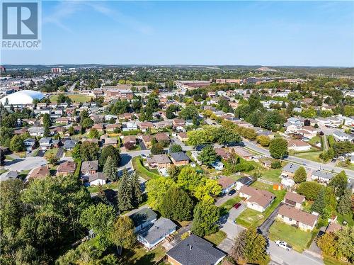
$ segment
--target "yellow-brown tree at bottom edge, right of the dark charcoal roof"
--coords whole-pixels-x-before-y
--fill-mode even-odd
[[[235,243],[231,255],[241,264],[260,264],[269,258],[266,252],[267,241],[263,235],[258,234],[256,227],[241,232]]]

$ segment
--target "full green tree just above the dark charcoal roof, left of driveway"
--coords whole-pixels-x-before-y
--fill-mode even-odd
[[[220,210],[213,202],[200,201],[194,209],[192,232],[200,237],[217,232],[219,217]]]

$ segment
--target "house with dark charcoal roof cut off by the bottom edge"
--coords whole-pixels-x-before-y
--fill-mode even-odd
[[[207,240],[192,234],[166,252],[166,256],[167,261],[173,265],[216,265],[226,254]]]

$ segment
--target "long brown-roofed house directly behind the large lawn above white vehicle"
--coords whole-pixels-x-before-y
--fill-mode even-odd
[[[284,204],[280,206],[277,218],[287,225],[295,225],[301,230],[312,231],[316,225],[318,216]]]

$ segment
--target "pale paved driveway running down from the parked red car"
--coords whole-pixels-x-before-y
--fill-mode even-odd
[[[224,231],[227,237],[222,240],[222,242],[217,245],[219,249],[224,252],[231,252],[232,246],[234,245],[234,239],[239,235],[239,233],[244,230],[244,227],[237,225],[234,220],[246,209],[245,205],[241,205],[238,209],[232,208],[229,213],[223,215],[219,220],[220,230]]]

